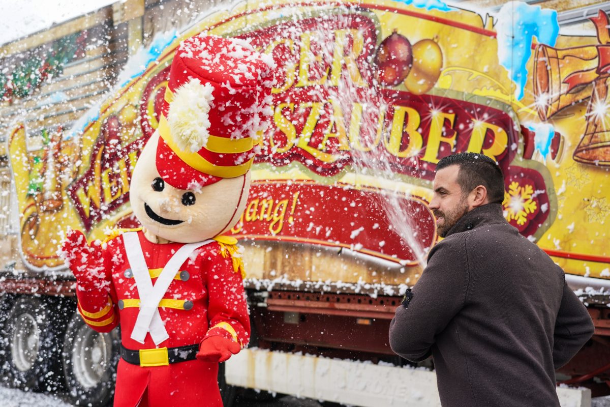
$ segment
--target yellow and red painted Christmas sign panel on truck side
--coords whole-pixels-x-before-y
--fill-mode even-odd
[[[503,169],[509,222],[566,273],[603,284],[608,16],[600,11],[590,35],[574,36],[559,35],[552,10],[502,10],[496,20],[440,2],[250,2],[210,12],[180,35],[157,34],[70,130],[10,128],[25,267],[64,270],[56,249],[68,227],[99,239],[134,225],[131,171],[156,129],[173,52],[207,30],[245,38],[277,64],[253,191],[232,230],[253,281],[404,290],[438,239],[426,205],[435,165],[473,151]],[[63,52],[78,52],[81,37]],[[297,254],[280,261],[286,247]],[[315,257],[296,264],[300,250]]]

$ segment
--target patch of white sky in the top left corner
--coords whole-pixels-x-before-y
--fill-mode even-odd
[[[0,0],[0,44],[70,20],[117,0]]]

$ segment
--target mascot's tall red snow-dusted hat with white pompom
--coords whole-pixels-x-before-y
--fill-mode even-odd
[[[196,189],[248,172],[271,114],[272,60],[244,40],[199,34],[171,64],[159,120],[163,181]]]

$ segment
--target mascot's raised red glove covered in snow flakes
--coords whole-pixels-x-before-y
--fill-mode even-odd
[[[99,245],[87,243],[81,231],[68,229],[62,242],[62,256],[85,290],[102,289],[110,292],[110,278],[104,270],[104,261]]]

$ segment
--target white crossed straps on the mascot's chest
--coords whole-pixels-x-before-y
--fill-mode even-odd
[[[159,302],[162,300],[163,295],[165,295],[168,287],[170,287],[171,281],[174,279],[180,266],[186,261],[188,256],[190,256],[194,250],[211,242],[213,242],[213,240],[187,243],[179,248],[178,251],[171,256],[170,261],[167,262],[165,267],[163,267],[159,278],[157,278],[157,281],[153,286],[137,232],[126,232],[123,234],[123,245],[125,247],[125,253],[127,254],[127,261],[129,261],[131,271],[134,273],[135,286],[140,295],[140,311],[135,320],[134,330],[131,331],[131,339],[137,340],[140,344],[143,344],[146,333],[149,332],[154,344],[159,345],[163,340],[170,337],[165,330],[165,325],[163,325],[163,321],[159,315]]]

